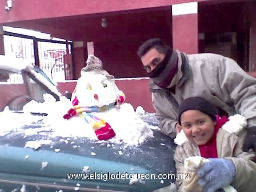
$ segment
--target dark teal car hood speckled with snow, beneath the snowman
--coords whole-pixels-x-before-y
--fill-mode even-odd
[[[144,122],[155,125],[156,119],[152,115],[142,117]],[[40,134],[26,135],[25,130],[47,127],[41,120],[30,125],[19,127],[0,137],[0,178],[8,174],[12,179],[21,182],[38,182],[45,180],[47,184],[65,184],[102,189],[125,191],[153,191],[170,185],[175,179],[138,179],[131,184],[131,179],[68,179],[67,174],[79,174],[84,166],[89,172],[118,174],[175,174],[173,154],[175,144],[159,130],[154,131],[154,138],[146,140],[141,145],[127,145],[126,143],[110,143],[109,141],[91,140],[84,137],[54,137],[49,138],[51,130]],[[50,140],[50,143],[39,148],[26,148],[29,141]],[[59,151],[58,151],[59,150]],[[46,163],[45,163],[46,162]],[[47,164],[47,166],[45,166]],[[45,167],[44,167],[45,166]],[[22,180],[22,176],[29,176]],[[39,179],[40,178],[40,179]],[[48,179],[46,179],[48,178]]]

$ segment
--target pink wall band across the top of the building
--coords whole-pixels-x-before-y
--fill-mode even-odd
[[[155,8],[193,1],[194,0],[122,0],[122,3],[120,3],[120,0],[14,0],[13,7],[8,14],[5,13],[4,9],[0,11],[0,23]],[[1,0],[0,7],[4,8],[5,6],[6,0]]]

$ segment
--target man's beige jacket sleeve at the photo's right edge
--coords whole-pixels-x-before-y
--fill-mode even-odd
[[[223,57],[217,66],[214,70],[220,90],[230,96],[236,112],[246,117],[248,127],[256,126],[256,79],[228,57]]]

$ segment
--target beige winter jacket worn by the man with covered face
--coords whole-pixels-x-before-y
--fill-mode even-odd
[[[178,67],[182,59],[178,52]],[[241,114],[248,127],[256,126],[256,79],[228,57],[202,53],[186,55],[188,65],[179,74],[175,94],[163,90],[152,80],[149,84],[159,127],[165,135],[175,137],[178,106],[188,97],[200,96],[228,112]]]

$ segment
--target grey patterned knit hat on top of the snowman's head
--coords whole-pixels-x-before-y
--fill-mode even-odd
[[[113,75],[110,75],[106,70],[103,69],[102,61],[95,57],[92,54],[88,55],[88,58],[86,60],[86,67],[84,67],[81,70],[81,76],[85,75],[86,73],[92,73],[92,74],[102,74],[106,75],[107,77],[113,78]]]

